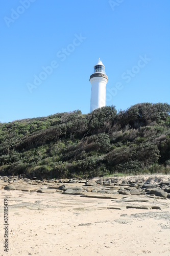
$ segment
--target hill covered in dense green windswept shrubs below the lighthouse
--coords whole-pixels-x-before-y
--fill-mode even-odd
[[[140,103],[0,123],[0,175],[170,173],[169,112],[167,103]]]

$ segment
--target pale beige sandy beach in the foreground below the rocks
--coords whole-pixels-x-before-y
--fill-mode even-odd
[[[36,191],[1,189],[0,195],[0,255],[170,255],[170,208],[108,209],[111,199]],[[170,205],[169,199],[158,201]]]

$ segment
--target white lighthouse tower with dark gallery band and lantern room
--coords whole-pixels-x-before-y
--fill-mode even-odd
[[[108,77],[105,74],[105,66],[102,61],[98,60],[98,63],[94,66],[94,73],[90,76],[91,83],[91,101],[90,112],[102,108],[106,105],[106,84]]]

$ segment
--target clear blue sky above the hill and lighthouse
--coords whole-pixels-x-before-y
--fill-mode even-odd
[[[88,113],[99,57],[107,105],[170,103],[169,0],[1,0],[0,7],[0,121]]]

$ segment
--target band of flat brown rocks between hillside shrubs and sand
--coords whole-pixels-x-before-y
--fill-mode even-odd
[[[0,189],[38,191],[53,193],[59,191],[70,195],[91,195],[96,198],[119,196],[156,196],[170,198],[170,175],[143,175],[92,179],[38,180],[23,176],[0,176]],[[90,194],[88,194],[90,193]],[[95,194],[95,195],[94,195]]]

